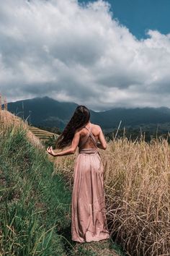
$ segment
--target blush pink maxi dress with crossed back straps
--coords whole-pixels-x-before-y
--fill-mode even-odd
[[[88,139],[94,142],[95,148],[83,148]],[[79,155],[74,167],[71,236],[76,242],[109,239],[105,215],[103,165],[91,127],[79,144]]]

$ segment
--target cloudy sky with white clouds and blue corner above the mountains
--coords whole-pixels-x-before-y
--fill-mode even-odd
[[[170,0],[6,0],[0,93],[170,108]]]

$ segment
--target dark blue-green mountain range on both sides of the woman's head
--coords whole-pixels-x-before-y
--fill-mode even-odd
[[[63,127],[71,118],[78,104],[63,103],[52,98],[33,98],[8,103],[8,110],[18,116],[24,116],[33,125]],[[118,127],[138,127],[148,124],[170,124],[170,108],[113,108],[109,111],[91,112],[91,121],[105,130]]]

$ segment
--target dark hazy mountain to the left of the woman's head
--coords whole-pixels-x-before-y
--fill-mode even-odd
[[[63,103],[44,97],[8,103],[8,111],[34,125],[63,128],[76,106],[76,103]]]

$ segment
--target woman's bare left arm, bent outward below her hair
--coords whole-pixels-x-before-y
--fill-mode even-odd
[[[59,153],[55,153],[53,151],[53,148],[52,147],[48,147],[47,148],[47,151],[50,155],[53,155],[53,156],[60,156],[60,155],[71,155],[71,154],[74,154],[76,152],[76,148],[77,146],[79,145],[79,140],[80,140],[80,133],[79,132],[76,132],[74,137],[73,137],[73,140],[71,142],[71,147],[68,148],[68,150],[63,150]]]

